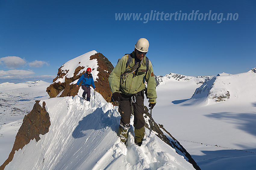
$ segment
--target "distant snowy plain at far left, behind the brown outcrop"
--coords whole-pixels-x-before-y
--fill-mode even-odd
[[[48,99],[45,91],[51,83],[42,80],[0,84],[0,164],[8,158],[23,118],[35,100]]]

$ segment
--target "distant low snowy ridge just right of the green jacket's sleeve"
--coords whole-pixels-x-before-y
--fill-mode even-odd
[[[176,74],[176,73],[170,73],[165,76],[156,76],[156,85],[163,85],[165,84],[166,81],[188,81],[188,80],[193,80],[196,82],[196,84],[199,83],[204,83],[206,80],[212,79],[214,76],[184,76],[181,74]]]

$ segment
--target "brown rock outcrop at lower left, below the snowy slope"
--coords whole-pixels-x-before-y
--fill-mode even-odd
[[[11,153],[3,165],[0,166],[0,170],[3,170],[5,166],[11,162],[15,151],[22,149],[30,142],[30,140],[36,139],[36,141],[39,141],[39,134],[44,135],[47,133],[49,131],[50,124],[50,117],[46,112],[45,102],[43,102],[43,107],[41,107],[39,105],[39,100],[36,100],[32,111],[25,115],[23,123],[16,135]]]

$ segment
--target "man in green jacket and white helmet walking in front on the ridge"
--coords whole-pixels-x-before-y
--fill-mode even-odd
[[[141,146],[142,138],[145,135],[145,120],[143,118],[145,82],[147,82],[146,96],[151,109],[155,106],[157,98],[152,64],[145,56],[148,47],[148,40],[140,38],[135,44],[134,51],[124,55],[118,61],[108,79],[113,100],[119,102],[121,141],[126,143],[130,128],[131,105],[133,105],[135,143],[139,146]]]

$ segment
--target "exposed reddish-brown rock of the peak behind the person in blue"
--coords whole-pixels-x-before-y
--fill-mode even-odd
[[[111,64],[111,62],[108,60],[108,58],[106,58],[104,55],[102,55],[101,53],[96,53],[95,55],[91,55],[90,56],[90,60],[96,59],[98,62],[98,67],[97,67],[97,71],[98,71],[98,78],[96,80],[94,80],[94,84],[96,87],[96,91],[99,92],[104,99],[107,102],[111,101],[111,91],[110,91],[110,87],[109,87],[109,83],[108,83],[108,76],[111,73],[111,71],[114,69],[113,65]],[[79,62],[80,64],[80,62]],[[83,63],[81,63],[83,64]],[[59,69],[58,69],[58,74],[57,77],[53,80],[53,84],[51,84],[47,89],[47,93],[48,95],[52,98],[52,97],[56,97],[59,95],[59,97],[65,97],[65,96],[75,96],[77,95],[79,88],[76,88],[76,84],[73,84],[74,81],[76,81],[77,79],[80,78],[80,76],[82,76],[85,73],[84,68],[87,68],[88,66],[78,66],[76,67],[73,76],[72,77],[67,77],[67,73],[70,70],[63,70],[62,67],[64,65],[62,65]],[[81,70],[83,70],[83,72],[81,72]],[[92,70],[94,70],[94,68],[92,68]],[[58,81],[56,82],[56,80],[58,79],[65,79],[64,82]]]

